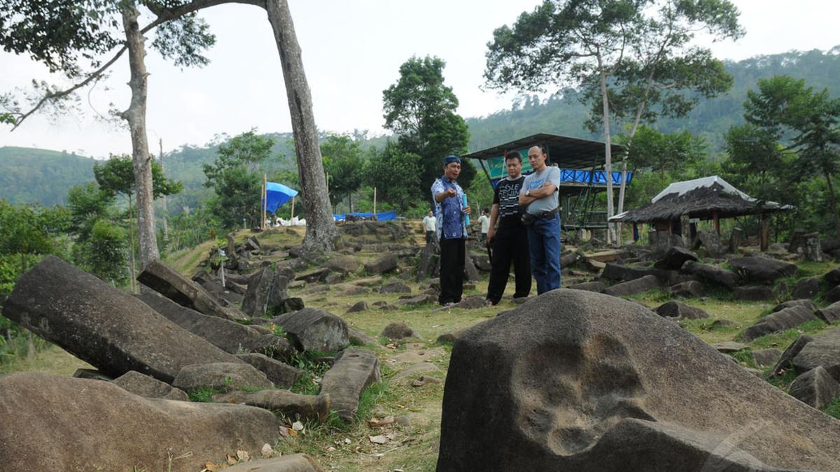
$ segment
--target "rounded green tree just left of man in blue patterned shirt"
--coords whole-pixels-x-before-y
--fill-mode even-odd
[[[422,184],[422,169],[423,160],[419,155],[407,152],[400,144],[389,140],[381,153],[375,153],[370,158],[365,180],[368,185],[376,187],[380,202],[390,203],[402,212],[429,194],[428,189],[423,194],[417,193]],[[432,186],[432,181],[426,183]],[[377,211],[386,208],[386,205],[380,204]]]

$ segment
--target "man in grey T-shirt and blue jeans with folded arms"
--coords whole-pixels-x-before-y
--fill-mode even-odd
[[[560,288],[560,170],[545,164],[543,146],[528,149],[533,174],[525,177],[519,191],[519,204],[526,207],[523,221],[528,225],[531,270],[537,281],[537,294]]]

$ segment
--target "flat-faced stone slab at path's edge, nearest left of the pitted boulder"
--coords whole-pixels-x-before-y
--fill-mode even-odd
[[[362,349],[344,349],[336,356],[333,367],[324,373],[321,392],[329,394],[332,408],[339,417],[349,421],[359,410],[362,392],[379,380],[376,354]]]

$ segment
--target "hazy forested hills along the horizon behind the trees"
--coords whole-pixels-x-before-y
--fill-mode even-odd
[[[756,87],[759,78],[778,75],[804,79],[822,90],[828,88],[833,97],[840,95],[840,46],[822,52],[788,52],[762,55],[738,62],[727,62],[727,71],[734,78],[732,90],[722,97],[701,101],[689,116],[664,120],[656,127],[670,132],[688,129],[706,138],[712,153],[722,149],[722,136],[732,124],[741,123],[742,104],[747,91]],[[554,133],[581,138],[601,139],[583,128],[588,116],[574,91],[565,97],[539,100],[522,95],[511,109],[482,118],[467,118],[470,127],[470,150],[484,149],[528,134]],[[621,130],[621,126],[614,129]],[[270,163],[272,170],[293,170],[291,133],[269,134],[276,140],[274,154],[282,156]],[[222,137],[223,140],[224,137]],[[383,139],[365,143],[381,146]],[[165,156],[166,173],[184,182],[185,192],[173,199],[172,210],[194,207],[209,196],[202,187],[202,164],[212,161],[218,149],[216,142],[205,146],[184,145]],[[65,152],[45,149],[0,147],[0,198],[11,202],[42,202],[51,205],[64,202],[71,186],[92,181],[93,160]]]

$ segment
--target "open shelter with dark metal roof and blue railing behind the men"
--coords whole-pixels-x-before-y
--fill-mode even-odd
[[[556,163],[560,168],[563,227],[606,228],[606,212],[595,211],[594,208],[595,193],[606,190],[607,176],[602,170],[606,165],[606,145],[601,141],[538,133],[463,157],[478,160],[481,169],[495,186],[497,181],[507,176],[505,151],[518,151],[522,155],[522,174],[528,174],[533,171],[528,163],[528,149],[535,145],[545,146],[548,149],[549,164]],[[610,148],[613,156],[624,152],[624,148],[618,144],[612,144]],[[613,171],[611,177],[613,186],[621,185],[622,172]],[[633,172],[627,172],[625,179],[629,185],[633,181]]]

